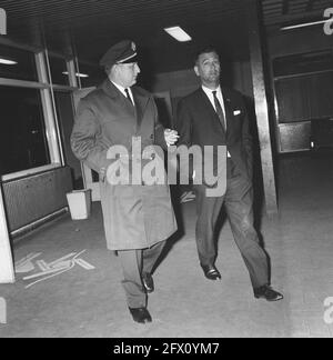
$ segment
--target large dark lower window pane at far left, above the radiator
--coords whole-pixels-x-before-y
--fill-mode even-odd
[[[49,164],[40,90],[0,86],[0,173]]]

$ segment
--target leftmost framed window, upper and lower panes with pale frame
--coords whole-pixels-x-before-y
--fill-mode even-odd
[[[46,53],[0,46],[2,180],[61,164]]]

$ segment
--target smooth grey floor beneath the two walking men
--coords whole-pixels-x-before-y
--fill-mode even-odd
[[[0,337],[333,337],[333,154],[284,156],[278,182],[280,213],[259,223],[272,284],[284,293],[283,301],[253,298],[228,222],[219,238],[222,280],[203,277],[194,242],[194,202],[189,201],[179,209],[183,234],[169,241],[154,272],[155,291],[149,297],[153,322],[134,323],[119,282],[119,260],[105,250],[95,203],[89,220],[64,216],[16,243],[16,262],[37,257],[26,270],[21,267],[14,284],[0,286],[7,302]],[[48,279],[23,279],[68,254],[85,262],[51,272]]]

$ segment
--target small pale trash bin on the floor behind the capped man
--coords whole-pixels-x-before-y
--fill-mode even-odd
[[[91,189],[73,190],[67,193],[72,220],[84,220],[90,217]]]

